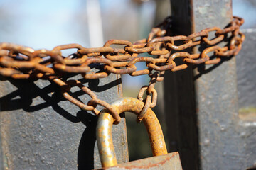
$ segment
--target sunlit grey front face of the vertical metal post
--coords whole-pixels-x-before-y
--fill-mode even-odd
[[[231,0],[193,1],[193,16],[195,31],[225,28],[232,19]],[[235,57],[215,67],[198,67],[194,74],[201,169],[245,169]]]

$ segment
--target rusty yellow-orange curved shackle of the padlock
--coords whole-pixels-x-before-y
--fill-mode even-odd
[[[129,111],[138,115],[144,106],[142,101],[137,98],[120,98],[114,101],[111,105],[117,113],[123,113],[124,111]],[[142,119],[146,130],[149,134],[149,140],[151,143],[151,149],[154,156],[167,154],[166,143],[164,141],[164,135],[161,130],[161,125],[159,120],[156,118],[155,113],[151,108],[146,111],[144,118]],[[114,118],[107,110],[102,110],[96,127],[96,138],[97,147],[100,153],[100,161],[102,167],[110,167],[117,165],[117,159],[114,152],[114,145],[112,141],[112,125],[114,123]]]

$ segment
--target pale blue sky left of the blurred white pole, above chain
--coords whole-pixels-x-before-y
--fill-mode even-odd
[[[78,42],[87,45],[85,38],[79,38],[75,17],[80,1],[31,1],[23,0],[4,6],[11,13],[9,35],[1,41],[14,42],[33,48],[52,49],[56,45]],[[3,2],[1,3],[3,4]]]

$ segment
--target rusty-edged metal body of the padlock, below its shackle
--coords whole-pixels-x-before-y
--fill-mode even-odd
[[[139,159],[137,161],[129,162],[127,164],[119,164],[106,169],[148,169],[148,170],[182,170],[181,160],[178,156],[178,152],[172,152],[170,154],[164,154],[156,157],[149,157],[145,159]]]

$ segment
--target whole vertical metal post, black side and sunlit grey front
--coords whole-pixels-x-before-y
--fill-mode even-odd
[[[225,28],[232,19],[231,0],[171,0],[171,12],[174,35]],[[246,140],[252,132],[238,118],[235,57],[169,72],[164,87],[169,146],[180,152],[183,169],[246,169],[255,164],[247,162]]]

